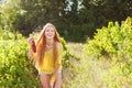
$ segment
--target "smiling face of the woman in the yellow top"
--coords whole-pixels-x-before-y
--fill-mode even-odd
[[[53,40],[54,36],[55,36],[55,30],[54,30],[54,28],[53,28],[53,26],[47,26],[47,28],[45,29],[45,37],[46,37],[47,40]]]

